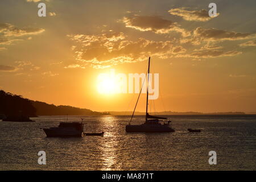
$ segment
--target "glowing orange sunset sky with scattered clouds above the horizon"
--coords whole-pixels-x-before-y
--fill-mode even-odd
[[[38,16],[40,2],[46,17]],[[217,17],[208,15],[210,2]],[[97,76],[145,73],[151,56],[160,92],[151,111],[256,111],[255,7],[254,0],[1,0],[0,89],[48,104],[133,110],[138,94],[98,93]]]

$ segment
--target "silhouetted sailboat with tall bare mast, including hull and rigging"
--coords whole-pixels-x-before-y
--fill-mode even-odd
[[[149,74],[150,74],[150,57],[148,58],[148,70],[147,70],[148,82],[149,82]],[[141,96],[141,92],[139,93],[139,96]],[[139,100],[139,97],[138,97],[138,100]],[[138,104],[138,100],[135,105],[134,111]],[[125,127],[126,132],[159,132],[159,133],[163,133],[163,132],[174,132],[175,131],[174,129],[172,129],[171,121],[169,121],[168,118],[158,117],[158,116],[148,114],[147,107],[148,107],[148,84],[147,84],[146,118],[145,118],[146,121],[141,125],[131,125],[131,120],[133,119],[133,116],[134,116],[134,111],[133,111],[133,115],[131,115],[129,125],[126,125],[126,127]],[[164,123],[161,123],[161,122],[164,122]]]

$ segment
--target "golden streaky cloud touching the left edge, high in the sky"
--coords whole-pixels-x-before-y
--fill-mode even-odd
[[[4,37],[17,37],[26,35],[37,35],[45,30],[43,28],[17,28],[9,23],[0,23],[0,35]]]

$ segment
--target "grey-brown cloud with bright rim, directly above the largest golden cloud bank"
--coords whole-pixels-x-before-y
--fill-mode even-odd
[[[180,28],[179,24],[159,16],[131,15],[123,17],[121,22],[125,23],[126,27],[139,31],[152,31],[156,34],[168,34],[170,31],[176,31],[180,32],[183,36],[191,35],[189,31]]]

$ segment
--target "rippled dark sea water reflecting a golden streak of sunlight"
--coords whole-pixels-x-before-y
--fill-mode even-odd
[[[69,117],[69,121],[81,121]],[[174,116],[175,133],[126,133],[126,116],[85,116],[84,131],[104,137],[46,138],[40,128],[57,126],[64,116],[36,122],[0,122],[0,169],[26,170],[255,170],[256,115]],[[142,123],[136,116],[133,123]],[[188,133],[188,128],[202,129]],[[39,151],[46,165],[39,165]],[[209,151],[217,165],[209,165]]]

